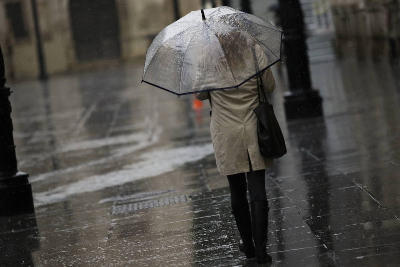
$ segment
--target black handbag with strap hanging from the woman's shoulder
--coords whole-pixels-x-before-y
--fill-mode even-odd
[[[257,135],[258,146],[261,155],[269,158],[280,158],[286,154],[285,139],[282,135],[278,120],[276,120],[272,104],[268,102],[267,96],[262,89],[262,79],[258,83],[257,74],[257,90],[258,90],[258,107],[254,108],[254,113],[258,118]],[[261,100],[262,98],[262,100]]]

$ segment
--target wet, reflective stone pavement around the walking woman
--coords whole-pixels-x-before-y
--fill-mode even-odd
[[[324,117],[287,122],[267,170],[270,266],[400,265],[400,63],[346,43],[311,66]],[[376,51],[375,51],[376,52]],[[208,103],[140,84],[142,62],[9,84],[35,215],[2,218],[0,266],[255,266],[238,250]]]

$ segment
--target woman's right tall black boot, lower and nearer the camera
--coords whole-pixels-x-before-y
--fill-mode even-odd
[[[257,263],[272,261],[267,253],[268,201],[250,201]]]

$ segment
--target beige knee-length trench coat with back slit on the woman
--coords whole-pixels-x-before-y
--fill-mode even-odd
[[[259,66],[266,66],[266,58],[256,49]],[[266,93],[275,89],[270,68],[261,74]],[[238,89],[216,90],[196,94],[199,100],[211,97],[212,116],[210,133],[218,171],[233,175],[250,171],[248,155],[254,171],[273,164],[272,158],[260,154],[257,137],[257,117],[253,109],[258,106],[257,78]]]

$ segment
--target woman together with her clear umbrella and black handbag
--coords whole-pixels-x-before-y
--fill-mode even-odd
[[[218,170],[228,177],[239,248],[258,263],[271,261],[265,169],[273,163],[261,155],[258,137],[263,155],[279,157],[286,150],[258,85],[266,93],[274,90],[268,67],[280,60],[281,43],[282,32],[257,16],[227,6],[192,11],[154,38],[142,76],[142,82],[178,96],[196,93],[199,100],[210,100],[212,144]]]

